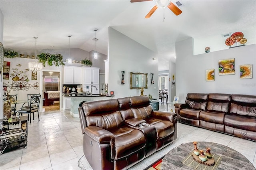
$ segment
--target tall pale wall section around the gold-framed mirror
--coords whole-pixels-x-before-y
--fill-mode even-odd
[[[115,91],[116,98],[140,95],[140,89],[130,89],[130,72],[148,73],[148,89],[144,89],[144,95],[150,93],[158,99],[158,60],[153,57],[158,58],[150,49],[109,27],[108,92]],[[121,84],[122,71],[125,71],[124,85]],[[150,83],[150,73],[154,73],[154,85]]]

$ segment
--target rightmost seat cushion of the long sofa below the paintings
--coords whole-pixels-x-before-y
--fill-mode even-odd
[[[228,114],[225,116],[224,125],[228,127],[256,132],[255,117]]]

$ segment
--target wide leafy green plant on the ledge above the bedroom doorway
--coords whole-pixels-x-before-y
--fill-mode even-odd
[[[40,53],[38,56],[39,62],[42,63],[45,67],[45,63],[52,66],[55,65],[59,67],[60,65],[65,65],[63,63],[63,56],[61,54],[50,54],[50,53]]]

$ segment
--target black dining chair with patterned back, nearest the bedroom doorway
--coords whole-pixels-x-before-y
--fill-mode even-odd
[[[30,124],[31,124],[31,116],[30,116],[31,113],[33,113],[33,120],[34,120],[34,113],[37,112],[37,114],[38,114],[38,121],[40,121],[40,119],[39,119],[40,98],[41,98],[41,95],[30,96],[29,108],[26,108],[26,109],[22,108],[21,110],[18,111],[18,113],[20,113],[21,115],[28,114],[28,121],[29,121],[29,117],[30,117]]]

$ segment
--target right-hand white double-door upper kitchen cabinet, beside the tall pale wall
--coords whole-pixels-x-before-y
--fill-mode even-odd
[[[82,84],[100,84],[100,68],[82,67]]]

